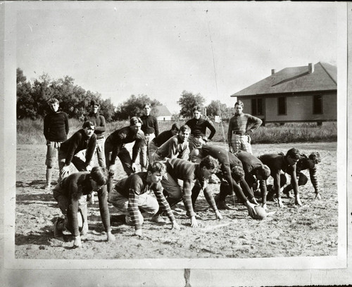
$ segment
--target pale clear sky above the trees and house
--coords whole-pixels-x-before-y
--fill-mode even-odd
[[[21,1],[23,2],[23,1]],[[271,70],[337,65],[338,2],[23,2],[17,67],[68,75],[115,106],[145,94],[178,113],[182,91],[206,105]]]

